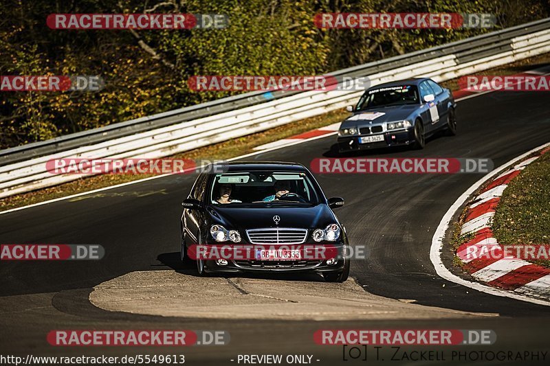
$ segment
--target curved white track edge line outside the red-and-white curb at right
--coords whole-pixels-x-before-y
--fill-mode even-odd
[[[524,159],[525,157],[531,155],[533,152],[536,152],[538,150],[542,150],[544,148],[547,148],[550,146],[550,142],[541,146],[538,146],[538,148],[533,148],[532,150],[529,150],[528,152],[525,152],[525,154],[520,155],[519,157],[516,157],[512,159],[511,161],[508,161],[507,163],[500,165],[500,167],[496,168],[492,172],[486,174],[483,176],[483,178],[479,179],[472,185],[470,188],[466,190],[453,204],[451,207],[449,207],[448,211],[445,213],[445,216],[441,218],[441,222],[439,222],[439,226],[435,230],[434,236],[432,238],[432,245],[430,247],[430,260],[432,261],[432,264],[434,265],[435,271],[439,277],[442,277],[443,279],[446,279],[450,282],[454,282],[455,284],[459,284],[462,286],[466,286],[469,288],[473,288],[474,290],[478,290],[482,293],[488,293],[490,295],[496,295],[500,297],[510,297],[511,299],[516,299],[520,301],[527,301],[533,304],[538,305],[545,305],[550,306],[549,301],[539,300],[539,299],[533,299],[531,297],[527,297],[524,295],[518,295],[518,293],[511,293],[507,290],[500,290],[498,288],[486,286],[484,284],[480,284],[478,282],[471,282],[467,281],[466,279],[463,279],[461,277],[458,277],[456,275],[453,275],[447,267],[443,264],[441,261],[441,251],[443,249],[443,238],[445,238],[445,231],[447,231],[450,221],[452,220],[452,216],[454,216],[454,213],[467,201],[467,199],[474,193],[476,190],[478,190],[485,181],[492,178],[492,176],[495,176],[499,172],[502,172],[503,170],[509,168],[514,163],[520,161],[521,159]]]

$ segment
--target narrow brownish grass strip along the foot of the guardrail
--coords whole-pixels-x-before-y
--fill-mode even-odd
[[[476,75],[513,75],[514,73],[520,73],[529,69],[542,66],[550,62],[550,54],[542,54],[533,58],[520,60],[513,64],[498,67],[496,69],[490,69],[487,71],[481,71]],[[458,79],[448,80],[441,84],[451,90],[458,89]],[[298,135],[300,133],[314,130],[319,127],[328,126],[336,122],[341,122],[349,113],[344,109],[338,111],[332,111],[325,115],[318,117],[312,117],[303,119],[298,122],[286,124],[284,126],[278,126],[270,130],[265,130],[261,133],[254,133],[230,141],[224,141],[220,144],[214,144],[211,146],[205,146],[188,152],[183,152],[174,155],[171,158],[188,158],[188,159],[229,159],[230,157],[236,157],[239,155],[245,155],[250,152],[256,146],[267,144],[272,141],[278,141]],[[124,174],[104,174],[100,176],[90,176],[76,181],[63,183],[56,185],[55,187],[47,187],[41,190],[33,192],[27,192],[23,194],[17,194],[14,196],[0,199],[0,211],[12,209],[16,207],[22,207],[26,205],[32,205],[43,201],[48,201],[54,198],[61,198],[65,196],[71,196],[72,194],[78,194],[91,190],[97,190],[103,187],[109,187],[111,185],[117,185],[120,183],[126,183],[129,181],[136,181],[138,179],[147,178],[147,175],[124,175]]]

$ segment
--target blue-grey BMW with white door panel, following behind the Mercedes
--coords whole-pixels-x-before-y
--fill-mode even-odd
[[[423,148],[439,130],[456,134],[456,103],[449,89],[428,78],[387,82],[366,90],[338,130],[338,150],[390,146]]]

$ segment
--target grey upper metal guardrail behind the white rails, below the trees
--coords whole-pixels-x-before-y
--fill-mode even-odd
[[[529,34],[538,30],[545,30],[550,27],[550,18],[534,21],[516,27],[506,28],[498,32],[481,34],[465,40],[448,43],[430,49],[424,49],[410,54],[387,58],[375,62],[369,62],[364,65],[350,67],[329,73],[333,76],[366,76],[371,73],[387,71],[395,67],[412,65],[422,60],[428,60],[437,56],[446,56],[455,54],[459,63],[467,62],[479,58],[479,56],[490,56],[505,52],[510,48],[509,40],[515,36]],[[253,91],[250,93],[242,93],[233,95],[228,98],[213,100],[195,106],[158,113],[142,118],[132,119],[130,121],[111,124],[102,128],[94,128],[79,133],[72,133],[47,141],[39,141],[23,146],[17,146],[5,150],[0,150],[0,166],[10,163],[17,163],[26,159],[50,155],[64,150],[70,150],[78,146],[98,144],[109,139],[133,135],[155,128],[170,126],[179,122],[191,121],[210,115],[234,111],[246,106],[253,106],[279,98],[285,98],[289,95],[300,93],[298,91],[277,91],[273,93],[265,93],[263,91]]]

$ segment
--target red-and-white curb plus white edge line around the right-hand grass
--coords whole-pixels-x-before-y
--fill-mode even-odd
[[[541,150],[542,148],[542,150]],[[536,157],[525,157],[533,152],[540,150]],[[496,206],[500,201],[504,190],[509,181],[520,174],[529,163],[532,163],[540,155],[550,151],[550,144],[536,148],[514,159],[498,171],[487,174],[480,181],[474,184],[465,192],[449,209],[443,217],[439,227],[436,230],[432,240],[432,249],[430,259],[436,268],[438,275],[452,282],[463,284],[483,292],[493,295],[513,297],[536,304],[550,305],[550,269],[532,264],[525,260],[514,257],[499,259],[498,255],[487,255],[488,252],[498,249],[498,242],[493,236],[491,229],[492,218],[494,217]],[[525,160],[523,160],[525,159]],[[515,165],[514,165],[515,164]],[[513,168],[509,168],[513,166]],[[498,172],[502,172],[496,178],[492,178]],[[465,222],[461,227],[461,234],[473,234],[474,238],[462,244],[456,251],[456,255],[465,264],[464,269],[474,279],[483,284],[466,281],[452,275],[441,262],[442,242],[445,236],[445,230],[450,224],[452,215],[475,192],[478,187],[487,184],[481,192],[478,192],[472,200],[472,204],[467,210]],[[469,247],[475,246],[476,251],[468,251]],[[479,258],[478,258],[479,257]],[[494,258],[493,258],[494,257]],[[492,286],[490,288],[488,286]],[[490,290],[489,290],[490,289]],[[525,296],[527,295],[527,297]]]

